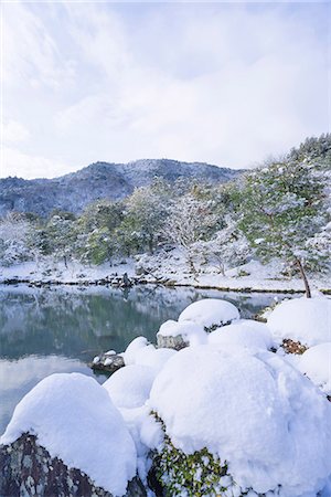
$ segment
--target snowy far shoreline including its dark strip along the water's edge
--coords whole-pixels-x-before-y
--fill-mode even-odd
[[[278,261],[263,265],[258,261],[227,269],[225,274],[213,266],[201,267],[193,274],[182,258],[171,260],[159,256],[143,257],[139,261],[127,258],[122,262],[84,265],[76,261],[67,264],[44,258],[38,264],[33,261],[7,267],[0,266],[0,285],[25,284],[30,287],[50,286],[111,286],[129,289],[137,285],[153,285],[164,288],[191,287],[205,290],[260,293],[260,294],[305,294],[298,275],[281,274]],[[309,278],[311,290],[331,295],[331,274],[313,274]]]

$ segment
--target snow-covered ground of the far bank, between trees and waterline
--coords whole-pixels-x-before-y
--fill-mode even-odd
[[[303,292],[303,284],[298,275],[289,277],[284,273],[279,261],[263,265],[250,261],[242,266],[225,271],[211,265],[200,265],[196,274],[192,274],[185,254],[180,250],[156,255],[142,255],[114,263],[111,266],[86,266],[70,261],[67,267],[63,262],[54,263],[44,257],[36,265],[34,262],[22,263],[9,267],[0,267],[0,283],[8,279],[29,282],[56,282],[85,284],[113,279],[125,273],[129,277],[139,277],[145,283],[162,283],[166,285],[186,285],[194,287],[221,288],[255,292]],[[331,290],[331,275],[312,275],[309,277],[312,289]]]

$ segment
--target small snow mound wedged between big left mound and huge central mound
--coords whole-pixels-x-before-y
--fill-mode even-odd
[[[126,366],[111,374],[103,387],[117,408],[140,408],[149,398],[156,374],[149,366]]]

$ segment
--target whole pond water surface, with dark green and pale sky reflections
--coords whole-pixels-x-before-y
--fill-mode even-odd
[[[252,317],[275,295],[157,286],[130,292],[100,286],[0,286],[0,434],[17,403],[40,380],[77,371],[102,383],[107,377],[94,374],[87,366],[94,356],[122,351],[140,335],[154,342],[163,321],[177,319],[189,304],[205,297],[225,298],[243,317]]]

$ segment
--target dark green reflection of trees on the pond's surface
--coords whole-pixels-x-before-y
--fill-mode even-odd
[[[88,360],[105,349],[121,351],[138,335],[154,341],[161,322],[177,319],[203,297],[226,298],[241,308],[243,317],[273,300],[273,295],[158,286],[137,286],[129,294],[107,287],[2,287],[0,355],[61,353]]]

